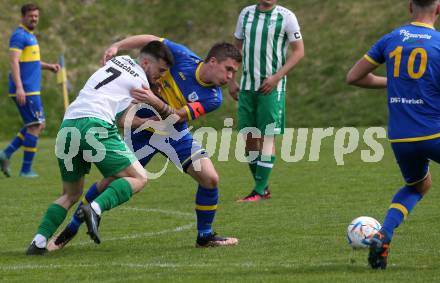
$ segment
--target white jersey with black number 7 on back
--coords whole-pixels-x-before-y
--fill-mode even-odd
[[[148,86],[144,70],[130,56],[117,56],[97,70],[86,82],[64,119],[94,117],[114,123],[133,98],[130,90]]]

